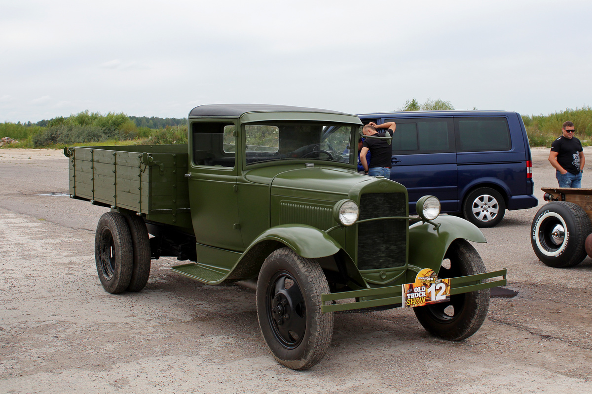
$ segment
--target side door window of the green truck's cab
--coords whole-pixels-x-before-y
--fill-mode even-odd
[[[234,167],[236,126],[232,123],[193,123],[193,161],[197,165]]]

